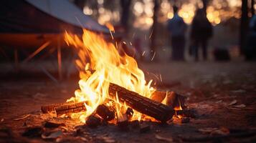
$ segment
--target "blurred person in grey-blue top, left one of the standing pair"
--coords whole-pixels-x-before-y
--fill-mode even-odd
[[[184,61],[186,24],[181,16],[178,15],[178,7],[173,6],[173,9],[174,17],[167,21],[167,28],[171,34],[171,59]]]

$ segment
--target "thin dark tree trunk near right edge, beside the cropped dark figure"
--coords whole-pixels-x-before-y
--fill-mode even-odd
[[[248,1],[242,0],[242,16],[240,23],[240,53],[243,54],[246,44],[246,34],[248,25]]]

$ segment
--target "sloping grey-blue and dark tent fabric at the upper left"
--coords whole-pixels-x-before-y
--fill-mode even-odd
[[[81,26],[108,32],[67,0],[2,0],[0,4],[0,33],[82,33]]]

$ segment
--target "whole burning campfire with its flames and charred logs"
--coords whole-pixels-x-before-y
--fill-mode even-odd
[[[133,121],[168,122],[184,114],[184,97],[174,92],[160,92],[146,82],[133,57],[103,36],[84,29],[82,40],[65,34],[79,59],[80,89],[62,104],[43,106],[42,112],[57,117],[70,116],[95,127],[102,122],[120,126]],[[181,118],[181,117],[180,117]]]

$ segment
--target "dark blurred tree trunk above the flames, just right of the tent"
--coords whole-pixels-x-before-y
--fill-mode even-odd
[[[120,0],[120,4],[122,7],[120,24],[124,27],[126,34],[128,34],[128,30],[129,30],[128,21],[129,21],[129,15],[130,15],[131,0]]]

